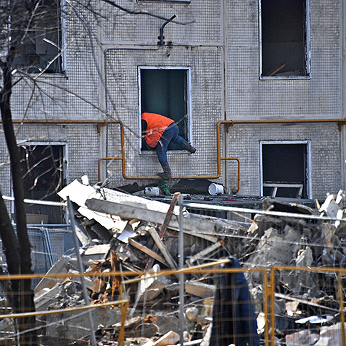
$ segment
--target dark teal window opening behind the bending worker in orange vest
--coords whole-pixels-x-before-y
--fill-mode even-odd
[[[189,69],[140,68],[140,113],[158,113],[175,121],[179,135],[191,141],[190,103],[189,103]],[[181,150],[170,143],[169,150]],[[141,150],[149,150],[144,140]]]

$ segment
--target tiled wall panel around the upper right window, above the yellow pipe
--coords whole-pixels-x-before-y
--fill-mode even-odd
[[[228,118],[338,118],[340,4],[309,1],[309,79],[260,80],[258,2],[227,3]]]

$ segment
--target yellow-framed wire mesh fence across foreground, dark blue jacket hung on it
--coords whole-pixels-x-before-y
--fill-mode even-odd
[[[1,276],[2,283],[41,277],[46,284],[35,294],[36,311],[32,312],[14,313],[6,299],[9,292],[3,292],[1,345],[12,345],[25,333],[13,323],[22,316],[36,316],[42,345],[88,343],[88,310],[101,345],[124,345],[127,339],[143,344],[150,339],[155,344],[160,336],[167,339],[162,344],[179,343],[179,317],[187,345],[345,345],[346,269],[241,268],[230,257],[180,271],[101,274]],[[181,274],[183,316],[179,316],[182,297],[176,285],[172,287]],[[106,283],[102,294],[90,297],[88,305],[81,297],[82,278],[89,281],[89,292]],[[119,285],[115,287],[114,282]],[[292,282],[295,292],[289,289]],[[299,287],[309,282],[318,284],[302,298]]]

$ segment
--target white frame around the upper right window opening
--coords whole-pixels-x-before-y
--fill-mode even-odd
[[[262,76],[262,66],[263,66],[263,61],[262,61],[262,0],[258,0],[258,31],[259,31],[259,45],[260,45],[260,56],[259,56],[259,76],[260,80],[266,80],[266,79],[310,79],[310,0],[305,0],[306,1],[306,76]]]

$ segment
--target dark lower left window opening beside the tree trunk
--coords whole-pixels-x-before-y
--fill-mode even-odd
[[[56,194],[64,185],[64,155],[61,145],[29,145],[20,148],[24,197],[60,201]],[[61,224],[63,208],[26,203],[27,223]],[[30,222],[34,221],[34,222]],[[40,222],[38,222],[40,223]]]

